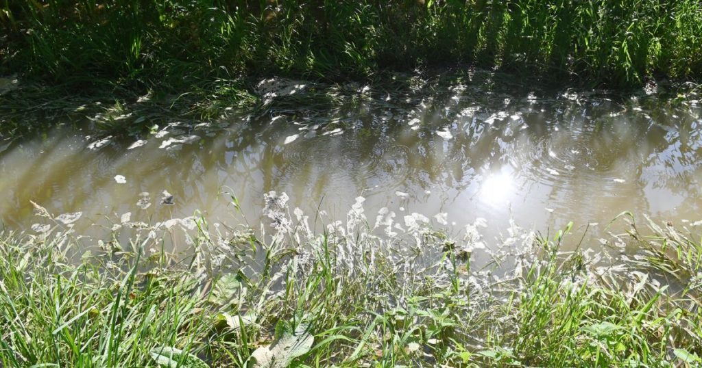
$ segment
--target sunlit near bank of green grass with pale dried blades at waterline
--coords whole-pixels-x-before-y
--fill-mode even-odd
[[[651,224],[631,259],[562,253],[510,229],[477,245],[422,217],[402,234],[362,207],[310,231],[268,198],[273,233],[197,219],[184,254],[161,236],[117,238],[68,259],[80,242],[48,212],[39,236],[0,237],[4,367],[694,367],[702,364],[702,246]],[[191,220],[192,221],[192,220]],[[124,224],[122,224],[124,226]],[[118,226],[119,227],[119,226]],[[155,228],[154,228],[155,229]],[[163,237],[168,236],[164,234]],[[83,250],[80,250],[83,252]],[[473,269],[491,252],[500,272]],[[428,255],[431,254],[429,257]],[[428,262],[427,259],[433,259]],[[506,270],[506,271],[505,271]],[[39,365],[35,365],[39,364]]]

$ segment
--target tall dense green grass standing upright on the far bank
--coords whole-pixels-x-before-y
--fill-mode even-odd
[[[0,19],[4,73],[72,86],[456,63],[614,86],[702,73],[694,0],[44,0],[5,2]]]

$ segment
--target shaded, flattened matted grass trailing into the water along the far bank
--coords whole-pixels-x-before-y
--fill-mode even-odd
[[[274,87],[262,88],[265,83]],[[422,114],[449,114],[449,107],[461,99],[474,100],[478,109],[494,109],[503,107],[508,100],[524,100],[535,91],[540,96],[559,95],[552,88],[533,78],[515,79],[480,69],[383,74],[369,83],[219,79],[206,87],[191,86],[180,95],[163,89],[137,93],[115,84],[78,93],[72,93],[67,86],[28,84],[0,95],[0,142],[37,130],[46,131],[55,125],[85,123],[90,123],[88,131],[93,139],[108,135],[143,138],[145,133],[161,130],[171,123],[187,131],[198,128],[202,122],[219,125],[232,121],[232,117],[247,121],[260,118],[267,125],[271,117],[287,116],[286,121],[307,128],[347,128],[360,117],[376,112],[378,118],[392,114],[395,121],[402,122],[421,118]],[[555,89],[562,90],[562,86]],[[693,84],[672,86],[672,90],[677,92],[677,99],[656,98],[656,108],[696,97]],[[578,96],[577,90],[567,91]],[[582,98],[589,95],[585,91]],[[616,94],[608,96],[623,98]],[[541,100],[555,101],[548,97]],[[458,112],[454,109],[450,114]]]

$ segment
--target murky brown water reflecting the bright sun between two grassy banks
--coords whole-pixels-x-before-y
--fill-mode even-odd
[[[274,109],[194,129],[174,123],[132,149],[136,138],[100,148],[84,132],[60,128],[1,154],[0,219],[29,229],[41,222],[33,200],[53,214],[83,212],[78,232],[107,233],[126,212],[154,223],[199,210],[211,223],[232,223],[240,221],[233,194],[259,224],[268,191],[327,219],[345,219],[357,196],[366,198],[369,219],[382,207],[450,229],[482,217],[487,238],[510,219],[541,231],[590,224],[594,238],[625,210],[674,224],[702,219],[695,100],[484,80],[444,87],[362,90],[355,104],[329,111]],[[160,203],[164,190],[173,205]],[[151,205],[141,208],[144,192]]]

